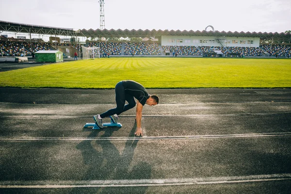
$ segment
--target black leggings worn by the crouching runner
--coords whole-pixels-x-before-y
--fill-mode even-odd
[[[116,100],[116,108],[110,109],[107,112],[100,114],[101,118],[104,118],[113,114],[119,115],[129,109],[132,109],[136,105],[134,97],[128,94],[125,94],[122,81],[119,81],[115,85],[115,100]],[[128,101],[127,105],[125,105],[125,101]]]

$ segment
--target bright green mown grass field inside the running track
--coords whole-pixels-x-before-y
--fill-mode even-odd
[[[0,87],[290,88],[291,60],[248,58],[101,58],[0,72]]]

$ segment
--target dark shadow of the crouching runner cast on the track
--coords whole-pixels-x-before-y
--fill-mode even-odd
[[[88,138],[97,137],[101,131],[105,131],[101,137],[111,137],[113,132],[118,129],[94,130]],[[136,122],[129,132],[129,137],[134,136]],[[127,140],[124,150],[120,153],[116,146],[110,140],[106,141],[82,141],[76,146],[81,150],[83,164],[87,165],[87,172],[81,180],[125,180],[125,179],[149,179],[151,177],[151,165],[147,162],[139,162],[137,165],[130,167],[134,150],[137,146],[138,139]],[[116,145],[123,144],[118,141]],[[90,188],[73,188],[71,194],[77,193],[139,193],[144,194],[147,187],[90,187]]]

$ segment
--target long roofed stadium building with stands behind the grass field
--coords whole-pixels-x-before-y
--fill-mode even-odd
[[[207,28],[211,27],[211,31]],[[31,56],[38,50],[60,50],[65,58],[81,56],[82,47],[98,47],[101,56],[285,57],[291,55],[291,33],[169,30],[78,30],[0,21],[1,56]],[[15,38],[3,33],[27,34]],[[49,35],[49,41],[32,35]],[[28,38],[27,38],[28,37]],[[70,38],[67,38],[70,37]],[[81,42],[80,37],[86,41]],[[89,40],[90,39],[90,40]]]

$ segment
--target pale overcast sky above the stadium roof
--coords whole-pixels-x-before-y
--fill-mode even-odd
[[[105,29],[225,32],[291,30],[291,0],[104,0]],[[0,0],[0,20],[99,29],[99,0]],[[207,31],[210,31],[208,28]]]

